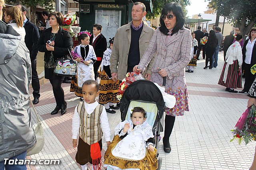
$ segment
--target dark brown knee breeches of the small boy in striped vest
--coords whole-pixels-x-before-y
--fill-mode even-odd
[[[102,150],[102,139],[98,141],[100,145],[100,150]],[[90,145],[85,143],[80,137],[78,140],[77,152],[76,152],[76,162],[80,165],[85,165],[87,162],[92,164],[92,157],[90,152]],[[99,160],[101,161],[101,160]]]

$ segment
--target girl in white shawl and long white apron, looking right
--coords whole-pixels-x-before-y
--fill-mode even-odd
[[[89,45],[90,37],[86,33],[78,36],[80,45],[76,46],[74,52],[78,54],[75,60],[78,62],[76,78],[71,80],[70,92],[83,100],[82,85],[86,80],[94,80],[93,63],[96,61],[96,55],[92,45]]]

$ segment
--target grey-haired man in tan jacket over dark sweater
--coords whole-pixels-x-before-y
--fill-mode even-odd
[[[112,80],[122,80],[127,72],[132,72],[135,65],[148,48],[149,42],[154,34],[154,29],[149,27],[142,18],[146,15],[146,7],[141,2],[135,2],[132,7],[132,21],[118,28],[110,56],[110,70]],[[148,80],[154,58],[145,71]]]

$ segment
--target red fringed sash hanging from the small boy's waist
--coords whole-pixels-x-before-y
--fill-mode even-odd
[[[100,170],[101,167],[101,153],[100,145],[98,142],[94,143],[90,147],[91,157],[92,157],[92,166],[94,170]]]

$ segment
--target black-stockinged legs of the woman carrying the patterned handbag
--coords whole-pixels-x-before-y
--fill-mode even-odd
[[[50,79],[50,83],[52,84],[52,90],[54,94],[54,98],[57,106],[61,107],[62,104],[65,104],[64,99],[64,90],[61,87],[63,80]]]

